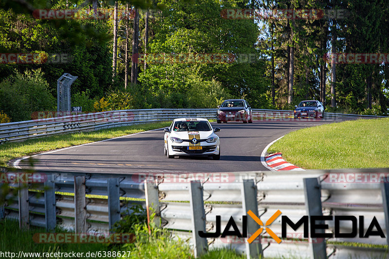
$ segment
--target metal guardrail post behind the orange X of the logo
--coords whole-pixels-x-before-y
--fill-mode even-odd
[[[255,216],[259,218],[258,203],[257,203],[257,187],[254,184],[253,179],[244,179],[242,183],[242,207],[243,213],[247,214],[251,210]],[[258,224],[251,218],[247,218],[247,231],[252,235],[258,229]],[[246,255],[247,258],[263,258],[261,236],[258,237],[258,241],[251,243],[246,242]]]

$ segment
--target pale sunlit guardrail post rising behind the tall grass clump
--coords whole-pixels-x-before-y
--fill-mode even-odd
[[[147,209],[147,224],[150,223],[150,212],[155,212],[154,216],[154,224],[156,227],[160,226],[160,211],[159,211],[159,195],[158,195],[158,187],[156,183],[156,179],[154,182],[144,182],[144,195],[146,198],[146,209]],[[150,211],[150,208],[152,211]],[[150,232],[150,224],[149,233]]]

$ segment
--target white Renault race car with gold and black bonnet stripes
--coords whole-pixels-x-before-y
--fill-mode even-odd
[[[163,130],[165,136],[164,150],[167,158],[175,155],[209,155],[220,159],[220,139],[207,119],[175,119],[169,128]]]

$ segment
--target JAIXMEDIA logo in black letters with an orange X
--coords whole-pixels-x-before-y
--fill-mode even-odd
[[[277,210],[267,221],[266,224],[262,222],[251,210],[247,212],[259,226],[258,230],[253,232],[249,230],[250,233],[253,233],[248,239],[248,243],[252,243],[261,233],[266,230],[266,233],[270,235],[277,243],[281,243],[282,240],[270,229],[270,225],[282,214],[280,210]],[[232,216],[228,221],[223,232],[221,232],[221,216],[216,216],[216,231],[214,233],[207,233],[203,231],[198,231],[198,235],[202,238],[225,238],[226,236],[236,236],[238,238],[247,238],[248,229],[247,229],[247,215],[242,217],[242,233],[239,231],[237,224],[235,223]],[[333,233],[325,233],[324,230],[329,229],[328,222],[334,221],[335,231]],[[319,222],[319,223],[318,223]],[[327,222],[327,223],[326,223]],[[351,232],[340,232],[341,223],[351,223]],[[377,219],[373,217],[371,222],[365,222],[364,216],[302,216],[296,223],[293,222],[288,216],[281,217],[282,233],[281,237],[283,239],[288,238],[287,226],[292,228],[294,231],[303,227],[303,237],[304,238],[369,238],[370,236],[380,236],[385,238],[385,234],[382,231],[380,224]],[[364,232],[365,225],[369,225],[366,232]],[[232,227],[233,230],[230,230]],[[358,229],[359,228],[359,229]],[[318,231],[320,233],[318,233]],[[324,233],[323,233],[324,232]]]

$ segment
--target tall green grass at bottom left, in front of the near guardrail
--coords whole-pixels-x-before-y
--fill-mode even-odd
[[[184,240],[173,239],[170,233],[166,230],[158,229],[157,235],[149,236],[147,234],[147,224],[135,224],[136,242],[123,245],[112,245],[105,243],[35,243],[33,236],[35,233],[47,232],[44,228],[31,226],[29,230],[21,231],[18,226],[18,221],[15,220],[0,220],[0,251],[7,251],[18,255],[19,251],[24,253],[40,253],[40,256],[30,255],[28,258],[67,258],[67,256],[47,257],[42,253],[98,253],[98,258],[148,258],[148,259],[176,259],[187,258],[194,259],[193,252],[188,243]],[[154,232],[154,233],[156,233]],[[55,233],[69,233],[66,230],[57,228]],[[126,255],[122,257],[112,257],[112,252],[126,251]],[[128,254],[127,251],[130,251]],[[105,252],[105,253],[104,253]],[[127,256],[128,255],[128,256]],[[27,257],[26,257],[27,258]],[[200,259],[244,259],[243,255],[238,255],[233,250],[215,249],[200,257]]]

